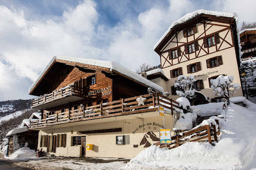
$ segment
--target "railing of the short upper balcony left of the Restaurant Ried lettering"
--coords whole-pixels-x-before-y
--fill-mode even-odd
[[[54,90],[52,93],[46,94],[44,96],[40,96],[37,99],[32,100],[31,108],[37,108],[40,105],[62,99],[68,96],[78,96],[80,98],[84,98],[83,90],[81,87],[74,86],[74,84],[70,84],[69,86],[63,87],[58,90]]]

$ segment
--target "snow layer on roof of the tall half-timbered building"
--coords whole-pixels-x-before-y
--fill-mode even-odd
[[[171,24],[171,26],[169,27],[169,29],[165,32],[165,34],[159,39],[159,41],[157,42],[157,44],[155,44],[154,46],[154,50],[155,48],[157,48],[157,46],[163,41],[163,39],[168,35],[168,33],[171,31],[171,29],[176,26],[177,24],[181,24],[181,23],[185,23],[186,21],[196,17],[199,14],[208,14],[208,15],[215,15],[217,17],[233,17],[236,18],[237,14],[234,12],[219,12],[219,11],[207,11],[205,9],[200,9],[197,10],[195,12],[191,12],[189,14],[184,15],[183,17],[181,17],[180,19],[178,19],[177,21],[175,21],[174,23]],[[236,18],[236,20],[238,20],[238,18]]]

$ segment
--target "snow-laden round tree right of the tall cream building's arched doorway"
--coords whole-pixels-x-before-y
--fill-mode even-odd
[[[210,80],[212,83],[212,90],[215,96],[222,96],[226,99],[229,99],[230,95],[235,94],[235,90],[240,89],[238,83],[233,83],[234,76],[229,75],[229,76],[223,76],[219,75],[216,79]]]

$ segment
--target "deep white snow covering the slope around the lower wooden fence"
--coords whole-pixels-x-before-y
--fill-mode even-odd
[[[256,168],[256,104],[248,108],[231,103],[225,121],[219,120],[218,143],[188,142],[177,148],[166,150],[150,146],[139,153],[123,169],[215,169],[248,170]],[[221,113],[222,103],[198,105],[202,114]],[[215,109],[213,111],[213,109]]]

